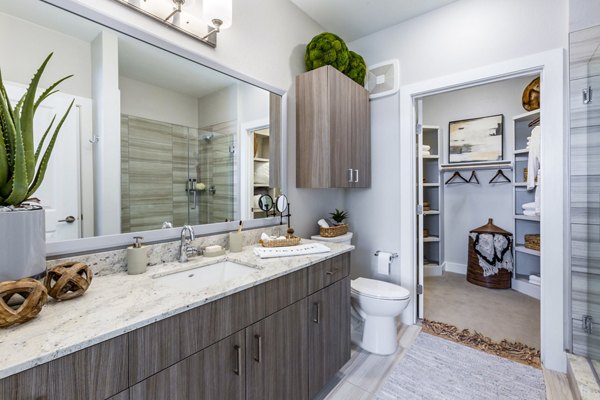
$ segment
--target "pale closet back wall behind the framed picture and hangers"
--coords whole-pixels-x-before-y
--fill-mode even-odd
[[[448,123],[461,119],[488,115],[504,115],[504,159],[512,160],[514,129],[512,117],[526,112],[521,105],[523,89],[532,77],[521,77],[506,81],[476,86],[454,92],[426,97],[423,100],[423,122],[440,127],[442,137],[442,163],[448,161]],[[506,172],[510,177],[509,171]],[[463,172],[468,179],[470,171]],[[443,187],[444,246],[443,262],[454,268],[461,266],[466,272],[468,232],[487,223],[513,231],[512,185],[489,184],[496,174],[493,171],[477,171],[479,185],[457,184]],[[445,182],[452,176],[447,172]],[[426,217],[438,218],[438,217]],[[514,232],[513,232],[514,233]]]

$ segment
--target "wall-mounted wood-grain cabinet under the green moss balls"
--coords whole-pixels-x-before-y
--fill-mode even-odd
[[[296,77],[296,187],[371,186],[369,92],[325,66]]]

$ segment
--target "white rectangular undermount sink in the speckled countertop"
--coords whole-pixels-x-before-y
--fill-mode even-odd
[[[234,279],[243,278],[256,271],[256,268],[234,263],[232,261],[222,261],[182,272],[157,276],[154,279],[162,284],[177,289],[199,290]]]

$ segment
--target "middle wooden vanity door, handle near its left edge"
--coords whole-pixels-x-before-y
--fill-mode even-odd
[[[246,329],[248,400],[308,398],[306,318],[303,299]]]

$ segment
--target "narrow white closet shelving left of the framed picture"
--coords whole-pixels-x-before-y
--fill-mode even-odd
[[[440,240],[442,236],[442,194],[440,187],[440,152],[441,135],[438,126],[424,125],[417,148],[419,166],[419,230],[421,243],[420,255],[423,262],[423,270],[426,276],[442,274],[443,248]],[[429,154],[423,154],[422,146],[430,146]],[[423,207],[424,202],[429,207]],[[429,235],[425,237],[423,229],[427,229]]]

